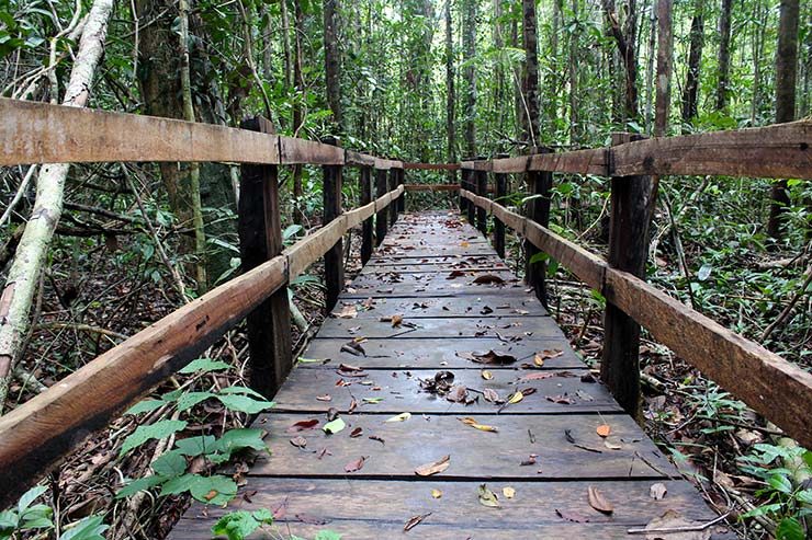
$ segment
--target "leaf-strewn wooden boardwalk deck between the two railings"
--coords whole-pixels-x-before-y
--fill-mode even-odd
[[[256,538],[642,539],[628,529],[667,510],[717,517],[456,214],[403,216],[334,315],[255,422],[272,453],[243,495],[226,509],[194,504],[170,538],[210,538],[225,512],[259,508],[278,519]],[[501,363],[482,364],[488,352]],[[327,435],[336,415],[346,427]],[[416,474],[446,456],[439,472]],[[482,484],[498,507],[481,502]],[[590,489],[611,514],[590,505]]]

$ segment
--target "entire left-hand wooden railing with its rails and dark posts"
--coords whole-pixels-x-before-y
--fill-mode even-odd
[[[403,208],[401,161],[270,133],[262,118],[233,129],[0,99],[0,164],[222,161],[241,164],[238,229],[244,274],[138,332],[0,416],[0,508],[93,432],[247,320],[251,384],[270,397],[293,365],[287,283],[325,257],[327,309],[343,288],[341,241],[363,226],[362,254]],[[278,165],[324,168],[324,226],[284,249]],[[361,206],[343,211],[342,168],[361,169]],[[373,198],[372,170],[376,193]],[[365,262],[364,260],[364,262]]]

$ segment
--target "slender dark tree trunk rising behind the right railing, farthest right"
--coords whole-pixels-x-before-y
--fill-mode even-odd
[[[798,14],[799,0],[781,0],[776,51],[776,123],[796,119],[796,82],[798,79]],[[787,180],[779,180],[770,189],[767,233],[776,241],[783,237],[789,193]]]

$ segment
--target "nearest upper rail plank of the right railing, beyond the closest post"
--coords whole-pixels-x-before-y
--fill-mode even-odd
[[[812,180],[812,120],[661,137],[612,150],[618,176],[722,174]]]

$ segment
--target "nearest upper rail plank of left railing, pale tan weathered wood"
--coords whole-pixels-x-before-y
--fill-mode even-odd
[[[0,165],[104,161],[279,163],[279,138],[245,129],[0,97]]]

